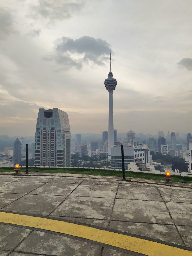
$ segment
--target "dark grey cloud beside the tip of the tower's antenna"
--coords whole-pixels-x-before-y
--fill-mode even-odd
[[[54,59],[58,64],[62,64],[66,68],[74,66],[77,69],[81,69],[83,62],[91,62],[102,66],[109,55],[109,44],[100,38],[83,36],[73,40],[69,37],[63,37],[59,41],[55,55],[46,59]]]

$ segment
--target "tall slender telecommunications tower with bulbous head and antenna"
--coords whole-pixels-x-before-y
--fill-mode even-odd
[[[111,159],[111,147],[114,145],[114,132],[113,132],[113,90],[117,85],[117,80],[113,78],[111,72],[111,50],[110,50],[110,69],[108,78],[105,79],[104,85],[109,92],[109,128],[108,128],[108,159]]]

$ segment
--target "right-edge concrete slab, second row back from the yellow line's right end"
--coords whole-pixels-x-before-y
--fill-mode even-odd
[[[192,204],[169,202],[166,205],[176,225],[191,225]]]

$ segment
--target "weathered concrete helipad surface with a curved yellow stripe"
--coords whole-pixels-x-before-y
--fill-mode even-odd
[[[192,255],[192,186],[0,175],[0,255]]]

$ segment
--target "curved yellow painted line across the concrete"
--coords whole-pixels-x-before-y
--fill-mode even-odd
[[[0,222],[81,237],[148,256],[192,256],[188,250],[60,220],[0,212]]]

